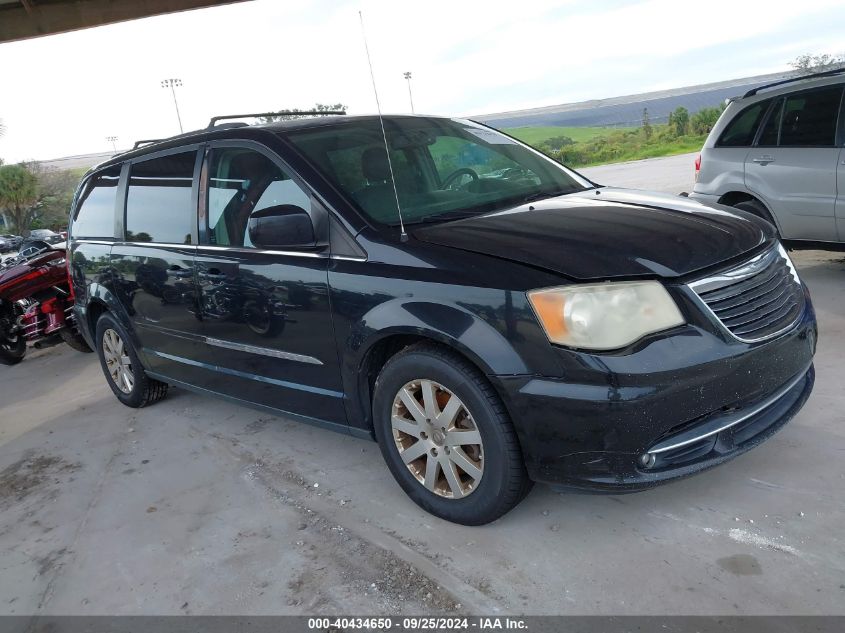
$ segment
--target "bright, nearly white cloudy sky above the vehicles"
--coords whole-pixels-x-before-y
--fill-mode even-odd
[[[219,114],[376,101],[471,116],[722,81],[845,52],[842,0],[253,0],[0,44],[0,158],[47,160]]]

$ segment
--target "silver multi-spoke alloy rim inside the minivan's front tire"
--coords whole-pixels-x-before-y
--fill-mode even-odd
[[[406,383],[393,399],[393,440],[420,484],[436,495],[461,499],[484,474],[481,433],[466,405],[432,380]]]

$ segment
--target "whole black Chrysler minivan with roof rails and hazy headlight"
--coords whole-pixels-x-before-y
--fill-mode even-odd
[[[769,224],[468,120],[212,125],[93,169],[71,219],[77,320],[121,402],[175,385],[375,438],[458,523],[533,481],[698,472],[813,386],[815,315]]]

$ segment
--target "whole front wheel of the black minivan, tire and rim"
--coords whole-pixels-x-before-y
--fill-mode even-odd
[[[437,345],[391,358],[375,385],[376,437],[391,473],[420,507],[482,525],[531,489],[513,426],[493,387]]]

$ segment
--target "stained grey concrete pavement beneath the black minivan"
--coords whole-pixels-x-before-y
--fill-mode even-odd
[[[94,355],[35,351],[0,367],[0,613],[845,614],[845,260],[796,260],[818,378],[780,433],[480,528],[417,508],[370,442],[178,389],[127,409]]]

